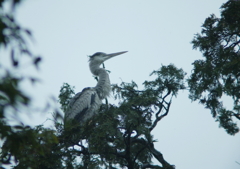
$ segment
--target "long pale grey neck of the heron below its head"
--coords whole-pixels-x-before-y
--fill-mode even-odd
[[[98,68],[95,70],[95,75],[98,76],[98,83],[96,85],[96,90],[100,99],[105,99],[110,95],[111,84],[109,80],[109,75],[107,71],[103,68]]]

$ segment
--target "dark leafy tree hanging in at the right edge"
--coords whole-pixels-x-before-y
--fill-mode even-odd
[[[240,120],[240,1],[223,4],[221,18],[208,17],[192,44],[204,59],[193,63],[189,97],[210,109],[220,127],[234,135],[239,132],[234,121]],[[232,99],[232,110],[221,101],[223,96]]]

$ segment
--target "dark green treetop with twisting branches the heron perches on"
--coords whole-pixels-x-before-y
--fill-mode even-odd
[[[113,85],[115,98],[120,100],[119,106],[103,105],[100,113],[83,126],[65,128],[60,134],[60,142],[72,147],[68,153],[81,157],[78,167],[174,168],[154,148],[151,131],[169,113],[172,96],[177,96],[178,91],[185,88],[185,73],[168,65],[151,75],[157,77],[145,81],[143,90],[138,90],[135,82]],[[62,89],[66,86],[69,87],[64,84]],[[71,90],[61,90],[66,92],[60,96],[67,96],[70,94],[67,91]],[[161,166],[152,165],[153,157]]]

